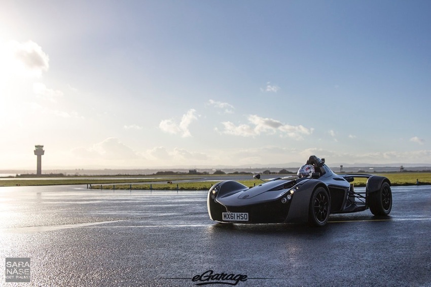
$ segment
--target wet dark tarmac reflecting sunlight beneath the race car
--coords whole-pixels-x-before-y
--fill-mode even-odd
[[[206,191],[1,187],[0,285],[430,286],[431,186],[392,193],[389,218],[311,228],[213,223]],[[30,258],[30,282],[5,258]]]

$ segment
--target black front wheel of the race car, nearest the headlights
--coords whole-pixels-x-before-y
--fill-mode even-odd
[[[331,211],[331,199],[324,187],[317,187],[310,199],[308,223],[312,226],[325,226]]]

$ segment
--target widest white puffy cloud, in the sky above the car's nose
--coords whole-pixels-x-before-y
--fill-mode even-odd
[[[255,137],[261,134],[280,134],[296,140],[302,140],[304,135],[312,134],[314,129],[307,129],[302,125],[291,126],[283,124],[281,121],[272,118],[263,118],[258,115],[249,115],[249,125],[243,124],[235,126],[230,121],[222,122],[224,130],[222,134],[242,137]]]

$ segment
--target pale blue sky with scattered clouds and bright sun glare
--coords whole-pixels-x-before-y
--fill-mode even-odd
[[[429,1],[0,7],[0,170],[431,163]]]

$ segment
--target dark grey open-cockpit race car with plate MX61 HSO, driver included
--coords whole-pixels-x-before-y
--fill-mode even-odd
[[[354,191],[351,182],[355,178],[368,179],[365,191]],[[308,222],[324,226],[330,214],[370,209],[375,216],[387,216],[392,192],[386,177],[338,175],[324,158],[311,155],[294,178],[275,178],[251,188],[231,180],[214,184],[208,192],[207,208],[209,218],[222,223]]]

